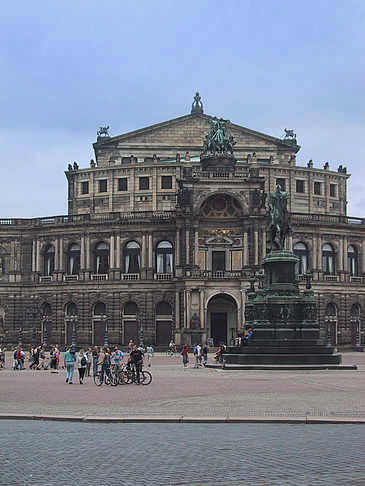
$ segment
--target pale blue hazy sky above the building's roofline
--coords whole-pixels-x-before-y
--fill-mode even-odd
[[[363,0],[12,0],[0,18],[0,217],[67,214],[64,170],[112,136],[204,111],[352,174],[365,217]]]

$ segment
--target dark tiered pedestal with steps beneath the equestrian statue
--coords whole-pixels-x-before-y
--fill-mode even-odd
[[[295,276],[298,258],[290,251],[275,250],[262,260],[258,289],[251,284],[245,308],[246,328],[253,339],[246,346],[228,347],[227,368],[267,369],[356,369],[341,365],[335,347],[319,339],[317,300],[310,277],[306,290],[299,291]]]

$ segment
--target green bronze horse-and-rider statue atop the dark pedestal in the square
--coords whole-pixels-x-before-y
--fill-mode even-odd
[[[288,195],[281,190],[281,186],[276,186],[275,192],[269,195],[269,226],[271,251],[274,242],[277,240],[279,249],[284,249],[285,237],[291,231],[290,215],[288,211]]]

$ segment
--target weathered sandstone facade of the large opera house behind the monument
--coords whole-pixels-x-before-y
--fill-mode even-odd
[[[90,167],[69,166],[67,216],[0,220],[0,341],[24,345],[231,343],[244,324],[247,278],[268,250],[266,195],[289,195],[310,268],[322,336],[361,339],[364,220],[346,215],[340,167],[296,165],[295,139],[228,124],[234,167],[204,167],[210,117],[192,113],[99,137]],[[205,170],[203,170],[205,168]],[[358,326],[358,328],[357,328]]]

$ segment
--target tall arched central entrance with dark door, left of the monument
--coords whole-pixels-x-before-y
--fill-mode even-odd
[[[237,302],[228,294],[214,295],[208,302],[209,336],[213,345],[232,345],[237,334]]]

